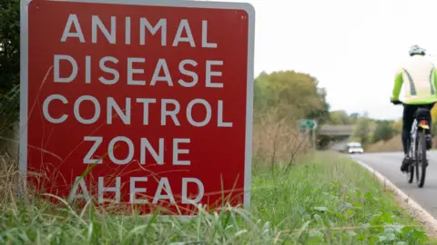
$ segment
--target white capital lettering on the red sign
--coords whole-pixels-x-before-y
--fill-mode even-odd
[[[165,18],[161,18],[155,25],[152,25],[147,18],[133,19],[129,16],[125,18],[117,18],[111,16],[107,20],[106,25],[97,15],[88,16],[89,19],[83,23],[91,23],[91,35],[87,36],[82,32],[82,23],[77,15],[71,14],[66,20],[66,25],[63,33],[60,35],[59,42],[67,43],[69,41],[79,41],[81,44],[98,44],[105,42],[107,44],[125,44],[125,45],[147,45],[148,38],[159,38],[160,46],[162,47],[178,47],[181,44],[189,44],[192,48],[206,48],[214,49],[218,47],[218,44],[208,40],[208,21],[202,20],[196,23],[189,23],[187,19],[181,19],[176,27],[177,31],[174,36],[169,36],[168,21]],[[139,38],[134,40],[132,38],[131,28],[132,22],[137,21],[139,23]],[[117,30],[117,22],[124,22],[123,29]],[[201,26],[201,34],[194,35],[191,31],[191,25]],[[118,32],[124,33],[122,40],[117,40]],[[97,40],[98,34],[103,34],[104,39]],[[159,34],[159,35],[158,35]],[[100,35],[102,36],[102,35]],[[196,40],[194,36],[199,36],[199,40]],[[119,37],[119,36],[118,36]],[[94,57],[92,55],[83,55],[77,58],[72,54],[54,54],[54,83],[101,83],[102,85],[113,85],[116,83],[124,83],[127,86],[160,86],[167,85],[168,87],[180,87],[180,88],[192,88],[195,86],[203,86],[210,89],[223,89],[225,83],[220,80],[222,72],[220,67],[224,65],[223,60],[207,59],[203,61],[196,61],[194,59],[182,59],[178,62],[177,75],[183,74],[189,79],[179,78],[175,80],[174,73],[170,73],[168,67],[168,60],[165,58],[158,58],[156,60],[148,60],[147,57],[123,57],[117,58],[115,56],[103,55]],[[98,64],[98,65],[97,65]],[[153,71],[145,71],[145,64],[153,64]],[[62,67],[68,67],[68,73],[63,73],[66,69]],[[93,68],[98,67],[98,71]],[[199,71],[198,67],[203,67]],[[121,76],[123,71],[124,76]],[[83,74],[79,77],[78,74]],[[93,73],[100,73],[101,75],[93,79]],[[102,74],[104,73],[104,74]],[[199,77],[198,73],[205,74],[203,77]],[[147,74],[149,74],[147,76]],[[151,75],[150,75],[151,74]],[[52,103],[61,102],[63,112],[50,113],[50,106]],[[91,117],[85,118],[81,113],[82,106],[86,103],[87,106],[91,105],[94,109],[94,114]],[[140,122],[132,122],[132,108],[140,104],[142,106],[142,120]],[[46,97],[43,103],[43,114],[47,122],[51,123],[63,123],[68,120],[75,120],[82,124],[93,124],[101,122],[104,118],[104,122],[107,125],[113,124],[113,119],[118,117],[126,124],[150,124],[150,114],[148,113],[152,106],[158,106],[159,108],[159,125],[166,126],[169,122],[172,125],[190,125],[193,127],[204,127],[208,124],[213,124],[216,127],[232,127],[233,122],[225,120],[225,104],[223,100],[216,100],[214,102],[208,101],[202,98],[193,98],[188,103],[179,103],[176,99],[171,98],[133,98],[125,97],[124,100],[115,99],[114,97],[107,97],[104,102],[97,100],[96,96],[83,94],[76,99],[68,100],[67,97],[60,93],[50,94]],[[192,116],[193,108],[201,107],[206,112],[204,117],[199,120],[195,120]],[[182,122],[181,115],[186,118],[186,122]],[[212,121],[212,115],[217,116],[217,121]],[[157,116],[157,115],[154,115]],[[189,160],[180,160],[180,154],[189,153],[189,138],[173,138],[164,139],[158,138],[157,142],[150,142],[147,138],[139,139],[139,142],[134,142],[127,136],[116,136],[111,139],[104,138],[103,136],[84,136],[84,142],[93,142],[93,145],[86,152],[83,158],[84,164],[103,164],[101,159],[95,157],[95,152],[102,147],[102,142],[108,142],[107,152],[109,162],[116,165],[125,165],[134,161],[135,152],[139,152],[140,159],[139,164],[145,165],[149,162],[146,159],[147,152],[152,156],[150,162],[163,165],[165,162],[172,165],[189,166],[191,162]],[[127,146],[127,155],[120,157],[114,154],[113,149],[117,143],[125,144]],[[186,144],[182,146],[181,144]],[[135,148],[134,145],[138,145]],[[153,147],[155,145],[156,147]],[[167,147],[168,146],[168,147]],[[164,159],[164,149],[172,149],[171,161]],[[111,164],[112,164],[111,163]],[[103,193],[113,192],[115,193],[115,201],[120,201],[121,191],[121,178],[115,177],[115,184],[108,187],[106,182],[109,178],[105,176],[98,177],[98,201],[103,202]],[[202,181],[197,178],[187,177],[181,178],[182,182],[182,203],[196,203],[200,201],[204,195],[204,185]],[[137,176],[130,177],[129,179],[129,196],[132,203],[148,203],[147,200],[137,199],[137,194],[147,194],[146,188],[137,188],[138,182],[147,182],[147,177]],[[188,183],[194,183],[198,188],[198,195],[194,199],[188,199]],[[71,190],[69,201],[84,198],[89,200],[89,194],[86,188],[86,182],[83,178],[77,177],[75,184]],[[152,191],[153,192],[153,191]],[[174,203],[175,199],[171,191],[170,181],[168,178],[162,177],[158,181],[158,189],[154,191],[152,203],[158,203],[158,201],[167,200],[170,203]],[[150,196],[150,195],[147,195]]]

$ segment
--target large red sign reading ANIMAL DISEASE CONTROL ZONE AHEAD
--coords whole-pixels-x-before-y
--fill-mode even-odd
[[[248,207],[251,5],[34,1],[22,13],[31,186],[143,213]]]

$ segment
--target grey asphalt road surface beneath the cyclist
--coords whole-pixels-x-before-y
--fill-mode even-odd
[[[430,164],[426,171],[425,185],[422,189],[417,187],[415,179],[409,184],[406,174],[401,173],[403,152],[363,153],[361,155],[351,155],[351,158],[364,162],[375,171],[379,171],[437,219],[437,152],[432,151],[428,154]]]

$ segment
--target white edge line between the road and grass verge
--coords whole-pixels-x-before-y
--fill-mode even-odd
[[[384,188],[389,187],[391,191],[394,192],[395,195],[401,198],[400,201],[403,201],[402,204],[408,206],[409,212],[412,212],[413,218],[419,220],[425,226],[425,229],[428,231],[427,232],[428,235],[432,238],[437,237],[437,220],[434,217],[432,217],[430,212],[423,209],[419,203],[412,200],[410,196],[408,196],[405,192],[401,191],[401,189],[396,187],[396,185],[394,185],[391,181],[389,181],[379,171],[374,170],[373,168],[371,168],[371,166],[369,166],[365,162],[361,162],[359,160],[353,160],[353,159],[352,161],[357,162],[363,168],[370,171],[373,174],[373,176],[375,176],[378,179],[378,181],[381,182]]]

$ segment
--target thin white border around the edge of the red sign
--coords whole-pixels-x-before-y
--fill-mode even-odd
[[[254,81],[254,48],[255,48],[255,9],[249,3],[229,2],[207,2],[207,1],[185,1],[185,0],[43,0],[60,2],[79,2],[90,4],[117,4],[117,5],[158,5],[178,6],[193,8],[215,8],[215,9],[240,9],[249,15],[248,30],[248,81],[246,101],[246,151],[245,151],[245,172],[244,172],[244,208],[249,211],[250,207],[250,181],[252,162],[252,117],[253,117],[253,81]],[[19,146],[19,171],[23,180],[21,193],[26,189],[27,173],[27,82],[28,82],[28,5],[32,0],[21,0],[21,54],[20,54],[20,146]],[[180,217],[180,216],[179,216]],[[188,216],[190,217],[190,216]]]

